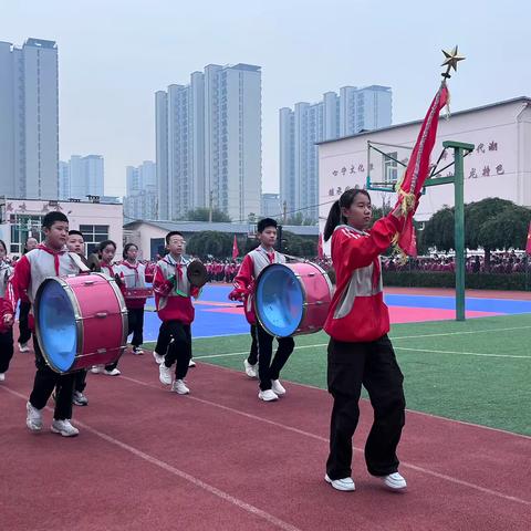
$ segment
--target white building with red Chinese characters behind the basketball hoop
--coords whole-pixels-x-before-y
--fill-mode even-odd
[[[517,97],[491,105],[460,111],[449,119],[441,112],[437,142],[431,162],[442,152],[442,142],[457,140],[473,144],[475,150],[465,157],[465,202],[487,197],[500,197],[517,205],[531,207],[531,98]],[[421,121],[393,125],[319,144],[319,204],[320,232],[323,231],[331,202],[345,187],[364,187],[367,170],[372,181],[396,181],[405,168],[371,149],[368,142],[391,157],[407,164]],[[448,149],[438,168],[452,162]],[[449,166],[441,173],[454,173]],[[373,204],[394,205],[395,195],[371,191]],[[454,206],[454,186],[426,188],[415,219],[428,220],[444,206]],[[330,244],[330,241],[329,241]],[[325,252],[330,253],[329,246]]]

